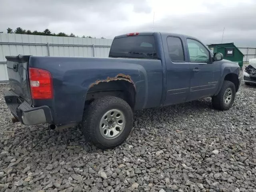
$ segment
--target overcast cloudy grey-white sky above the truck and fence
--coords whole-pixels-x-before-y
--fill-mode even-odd
[[[0,32],[26,30],[114,38],[172,32],[204,44],[256,47],[256,0],[0,0]],[[153,28],[154,20],[154,28]]]

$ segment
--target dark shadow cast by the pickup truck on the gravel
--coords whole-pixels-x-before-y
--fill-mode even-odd
[[[135,134],[133,131],[130,137],[143,137],[143,133],[140,130],[144,126],[151,126],[153,129],[158,129],[159,126],[163,126],[164,124],[171,124],[173,121],[179,122],[181,118],[189,118],[191,115],[196,118],[202,112],[211,112],[212,110],[210,98],[205,98],[174,106],[136,111],[134,113],[134,131],[137,130],[136,133],[142,135]],[[8,140],[10,144],[15,143],[17,140],[20,141],[12,146],[12,150],[14,151],[19,149],[20,146],[23,146],[23,153],[40,154],[43,156],[48,156],[53,152],[56,154],[65,152],[68,156],[72,156],[72,154],[77,153],[86,154],[88,152],[102,151],[88,143],[78,127],[57,132],[48,128],[46,124],[30,127],[20,123],[18,124],[20,129],[17,132],[15,131],[16,134]],[[14,124],[9,122],[9,126],[14,126]],[[171,129],[166,131],[172,132]],[[129,138],[127,142],[129,142]],[[31,158],[33,158],[33,155]]]

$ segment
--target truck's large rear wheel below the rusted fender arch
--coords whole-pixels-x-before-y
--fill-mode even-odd
[[[127,102],[114,96],[94,100],[84,111],[81,129],[101,149],[122,144],[132,130],[133,113]]]

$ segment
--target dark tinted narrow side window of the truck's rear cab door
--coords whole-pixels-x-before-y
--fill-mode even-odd
[[[185,61],[183,46],[180,38],[168,37],[167,45],[170,59],[173,61]]]

